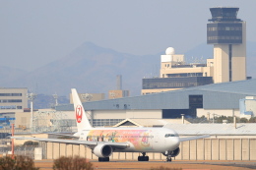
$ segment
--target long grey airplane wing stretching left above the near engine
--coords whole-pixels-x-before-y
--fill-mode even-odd
[[[42,138],[29,138],[29,137],[11,137],[15,140],[31,140],[38,142],[62,142],[70,144],[84,144],[91,148],[94,148],[97,144],[107,144],[111,145],[113,148],[127,148],[130,146],[129,142],[88,142],[88,141],[78,141],[78,140],[60,140],[60,139],[42,139]]]

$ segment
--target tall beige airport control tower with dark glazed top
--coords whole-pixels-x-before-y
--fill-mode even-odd
[[[246,23],[239,8],[210,8],[207,43],[214,44],[214,83],[246,80]]]

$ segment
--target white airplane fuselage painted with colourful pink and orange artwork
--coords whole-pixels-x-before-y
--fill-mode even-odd
[[[165,152],[179,146],[177,133],[166,128],[94,128],[77,133],[81,141],[128,142],[122,152]]]

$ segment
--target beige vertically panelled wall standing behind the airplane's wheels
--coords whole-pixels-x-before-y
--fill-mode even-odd
[[[43,158],[80,155],[97,159],[92,150],[82,144],[47,142]],[[256,160],[256,139],[203,139],[180,143],[180,153],[173,160]],[[137,160],[137,152],[114,152],[110,159]],[[165,160],[161,153],[148,153],[150,160]]]

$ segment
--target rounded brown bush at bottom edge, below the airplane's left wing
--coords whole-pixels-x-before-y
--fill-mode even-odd
[[[80,156],[61,156],[53,162],[54,170],[93,170],[93,163]]]

